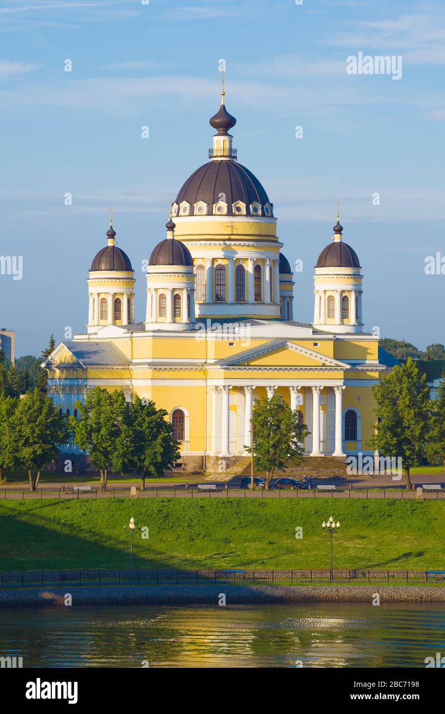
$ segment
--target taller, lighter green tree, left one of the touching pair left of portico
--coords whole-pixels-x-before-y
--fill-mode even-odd
[[[76,402],[78,418],[68,420],[73,442],[88,451],[91,463],[101,474],[101,489],[106,491],[108,469],[120,471],[126,466],[125,451],[129,432],[126,426],[126,401],[123,391],[108,392],[94,387],[85,401]]]

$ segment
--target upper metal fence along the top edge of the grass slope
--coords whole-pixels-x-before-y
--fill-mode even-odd
[[[406,491],[405,488],[338,488],[336,491],[319,491],[317,488],[308,491],[250,491],[248,488],[220,488],[218,491],[197,491],[195,488],[150,488],[146,491],[136,491],[136,498],[394,498],[396,500],[416,499],[416,491]],[[39,491],[26,489],[0,489],[0,501],[8,499],[29,500],[33,498],[56,498],[59,500],[79,500],[83,498],[130,498],[129,488],[108,488],[100,491],[72,491],[71,487],[39,488]],[[423,491],[426,501],[445,499],[445,490]]]

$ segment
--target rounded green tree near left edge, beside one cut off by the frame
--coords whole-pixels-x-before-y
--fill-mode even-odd
[[[16,466],[28,471],[29,488],[36,491],[41,469],[66,442],[66,423],[53,401],[37,389],[17,403],[9,421]]]

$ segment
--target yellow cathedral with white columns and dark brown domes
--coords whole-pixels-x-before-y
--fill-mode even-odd
[[[110,221],[88,273],[86,332],[42,365],[48,393],[68,414],[95,386],[153,400],[168,412],[187,471],[241,471],[252,403],[274,394],[307,424],[307,458],[372,455],[371,387],[395,361],[364,331],[357,253],[337,211],[314,268],[314,321],[295,319],[274,206],[237,163],[236,119],[221,94],[209,161],[180,188],[145,266],[145,318],[135,316],[133,267]],[[64,451],[76,459],[73,447]]]

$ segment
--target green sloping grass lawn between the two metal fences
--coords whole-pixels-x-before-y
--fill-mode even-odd
[[[334,568],[445,569],[444,501],[0,501],[0,570],[329,568],[322,521],[342,523]],[[303,538],[295,538],[302,526]]]

